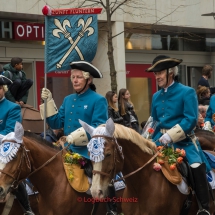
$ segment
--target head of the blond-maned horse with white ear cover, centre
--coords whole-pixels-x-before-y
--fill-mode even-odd
[[[97,128],[81,120],[79,122],[92,138],[87,145],[93,164],[92,196],[94,198],[106,197],[109,183],[123,166],[122,149],[114,138],[114,122],[110,118],[106,125]]]

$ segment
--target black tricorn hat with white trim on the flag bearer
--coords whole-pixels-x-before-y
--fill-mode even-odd
[[[89,72],[90,75],[93,76],[93,78],[102,78],[102,73],[91,63],[86,61],[75,61],[70,63],[70,66],[72,69],[78,69],[84,72]]]

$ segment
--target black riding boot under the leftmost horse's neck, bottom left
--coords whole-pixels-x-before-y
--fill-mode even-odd
[[[31,210],[28,194],[23,182],[19,184],[17,190],[15,190],[13,193],[15,194],[17,200],[22,206],[24,215],[35,215],[34,212]]]

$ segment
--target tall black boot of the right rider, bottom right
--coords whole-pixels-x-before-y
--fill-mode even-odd
[[[197,168],[191,168],[191,170],[195,182],[196,196],[202,206],[202,208],[199,208],[197,215],[210,215],[210,196],[208,190],[208,181],[206,179],[206,165],[205,163],[202,163]]]

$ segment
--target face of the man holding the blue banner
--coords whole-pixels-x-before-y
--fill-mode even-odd
[[[83,73],[80,70],[72,70],[71,71],[71,81],[72,81],[72,85],[73,88],[76,92],[80,92],[85,84],[86,84],[86,79],[84,79]],[[88,84],[86,86],[86,89],[89,88],[89,81]]]

